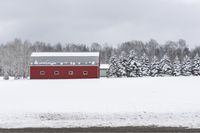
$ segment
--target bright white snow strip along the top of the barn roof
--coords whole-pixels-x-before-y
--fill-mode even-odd
[[[35,52],[32,57],[58,57],[58,56],[99,56],[99,52]]]

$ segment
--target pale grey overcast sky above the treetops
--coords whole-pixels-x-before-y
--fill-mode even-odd
[[[200,0],[0,0],[0,42],[200,45]]]

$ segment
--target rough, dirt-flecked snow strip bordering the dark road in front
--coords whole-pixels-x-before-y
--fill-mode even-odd
[[[160,126],[200,128],[200,113],[37,113],[0,115],[0,128]]]

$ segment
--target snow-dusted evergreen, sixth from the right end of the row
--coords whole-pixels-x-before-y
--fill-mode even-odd
[[[149,62],[149,59],[147,58],[145,53],[141,56],[140,62],[141,62],[142,76],[149,76],[149,73],[150,73],[150,62]]]

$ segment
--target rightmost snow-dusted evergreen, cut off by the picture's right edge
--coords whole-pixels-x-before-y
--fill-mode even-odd
[[[200,75],[200,57],[198,54],[196,54],[192,61],[192,74],[195,76]]]

